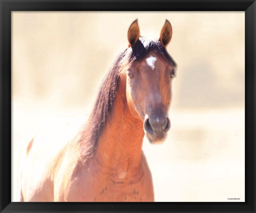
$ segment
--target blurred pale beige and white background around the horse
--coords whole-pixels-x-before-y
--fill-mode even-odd
[[[169,137],[143,142],[155,200],[245,201],[244,12],[12,12],[12,201],[28,135],[90,113],[137,18],[152,38],[171,22],[178,63]]]

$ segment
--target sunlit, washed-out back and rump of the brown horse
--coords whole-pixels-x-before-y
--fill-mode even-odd
[[[54,169],[85,118],[59,117],[39,127],[22,151],[19,201],[54,201]]]

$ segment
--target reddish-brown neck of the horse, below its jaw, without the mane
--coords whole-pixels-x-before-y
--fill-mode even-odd
[[[99,140],[95,161],[118,178],[129,178],[141,167],[143,123],[135,119],[127,106],[125,89],[116,95],[113,113]]]

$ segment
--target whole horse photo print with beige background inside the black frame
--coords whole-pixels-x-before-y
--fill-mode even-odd
[[[245,12],[12,12],[12,201],[245,202]]]

